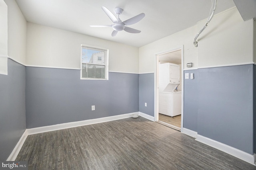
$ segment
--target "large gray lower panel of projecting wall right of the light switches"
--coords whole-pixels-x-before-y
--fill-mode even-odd
[[[198,134],[253,154],[253,65],[198,69]]]

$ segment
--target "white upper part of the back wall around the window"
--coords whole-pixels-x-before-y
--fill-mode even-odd
[[[109,71],[138,73],[138,48],[27,23],[26,65],[80,69],[81,44],[109,49]]]

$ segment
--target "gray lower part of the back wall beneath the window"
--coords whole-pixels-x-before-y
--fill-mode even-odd
[[[26,67],[27,128],[137,112],[138,76],[109,72],[109,80],[80,80],[80,70]]]

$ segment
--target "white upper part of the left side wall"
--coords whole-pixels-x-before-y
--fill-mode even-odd
[[[4,0],[8,8],[8,57],[26,64],[26,24],[15,0]]]

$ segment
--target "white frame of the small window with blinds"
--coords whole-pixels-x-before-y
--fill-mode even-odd
[[[106,55],[105,55],[105,78],[84,78],[82,77],[82,48],[83,47],[88,47],[88,48],[93,48],[93,49],[99,49],[99,50],[103,50],[106,51]],[[89,64],[94,64],[94,63],[89,63]],[[103,65],[103,64],[94,64],[94,65]],[[108,49],[104,49],[104,48],[100,48],[100,47],[94,47],[94,46],[89,46],[89,45],[82,45],[81,44],[81,54],[80,54],[80,79],[81,80],[108,80]]]

